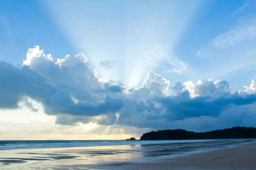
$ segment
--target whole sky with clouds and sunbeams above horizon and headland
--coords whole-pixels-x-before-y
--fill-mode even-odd
[[[3,0],[0,140],[256,127],[255,0]]]

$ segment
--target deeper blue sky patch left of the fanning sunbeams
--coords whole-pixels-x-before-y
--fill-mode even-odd
[[[27,49],[39,43],[47,53],[65,56],[77,52],[39,1],[5,0],[0,10],[0,54],[6,62],[22,64]]]

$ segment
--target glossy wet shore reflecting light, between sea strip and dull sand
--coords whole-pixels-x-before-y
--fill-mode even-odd
[[[2,150],[0,153],[0,169],[3,166],[10,170],[22,170],[29,166],[29,169],[52,170],[63,168],[75,170],[76,168],[92,168],[92,164],[96,164],[93,168],[97,170],[100,169],[102,163],[125,164],[125,161],[142,158],[151,159],[159,156],[177,156],[184,153],[201,152],[201,150],[230,147],[251,141],[253,140],[240,139],[170,144]],[[82,166],[79,167],[79,165]]]

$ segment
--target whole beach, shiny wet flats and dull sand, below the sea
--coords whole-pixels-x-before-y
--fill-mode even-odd
[[[26,142],[21,143],[19,149],[0,151],[1,170],[255,170],[256,167],[254,139],[116,141],[122,145],[114,145],[112,141],[105,146],[84,147],[73,141],[65,142],[69,147],[59,141],[51,145],[54,142],[45,142],[48,148],[32,148],[44,142],[29,143],[31,148],[27,148]],[[70,147],[73,145],[79,147]]]

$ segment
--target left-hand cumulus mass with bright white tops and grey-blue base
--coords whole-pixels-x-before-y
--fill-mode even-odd
[[[94,70],[85,64],[83,54],[66,56],[53,63],[52,59],[47,57],[49,55],[41,51],[30,53],[31,50],[29,49],[27,56],[33,56],[27,57],[24,61],[26,65],[21,68],[0,62],[0,78],[3,80],[0,91],[6,95],[0,98],[0,107],[18,108],[17,103],[24,96],[41,102],[46,113],[51,115],[67,113],[97,116],[104,112],[118,111],[122,107],[120,99],[113,99],[103,93],[93,94],[101,85]],[[77,104],[73,102],[71,95],[79,101]]]

